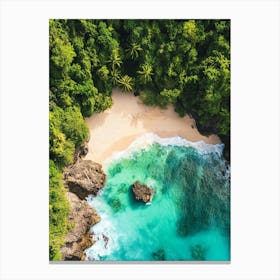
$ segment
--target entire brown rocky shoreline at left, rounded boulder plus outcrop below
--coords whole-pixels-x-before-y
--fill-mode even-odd
[[[63,260],[84,260],[85,249],[94,243],[89,230],[100,221],[100,217],[85,198],[90,194],[96,195],[104,187],[105,180],[100,164],[80,157],[65,169],[64,185],[71,209],[68,220],[72,228],[60,250]]]

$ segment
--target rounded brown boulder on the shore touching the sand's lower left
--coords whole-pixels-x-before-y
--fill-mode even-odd
[[[102,166],[91,160],[80,160],[64,171],[65,186],[80,199],[90,194],[96,195],[105,181]]]

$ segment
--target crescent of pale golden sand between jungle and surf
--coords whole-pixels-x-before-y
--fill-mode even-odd
[[[112,108],[86,119],[90,141],[85,159],[104,164],[114,152],[125,150],[145,133],[155,133],[160,137],[180,136],[207,144],[221,143],[217,135],[201,135],[195,121],[189,116],[179,117],[172,105],[166,110],[146,106],[133,93],[123,93],[118,89],[113,90],[112,98]]]

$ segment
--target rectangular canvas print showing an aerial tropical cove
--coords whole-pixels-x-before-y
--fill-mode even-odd
[[[50,20],[50,261],[230,261],[230,20]]]

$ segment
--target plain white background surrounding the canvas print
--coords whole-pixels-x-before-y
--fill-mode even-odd
[[[49,264],[49,18],[231,19],[231,264]],[[0,279],[280,279],[278,1],[4,0],[0,19]]]

